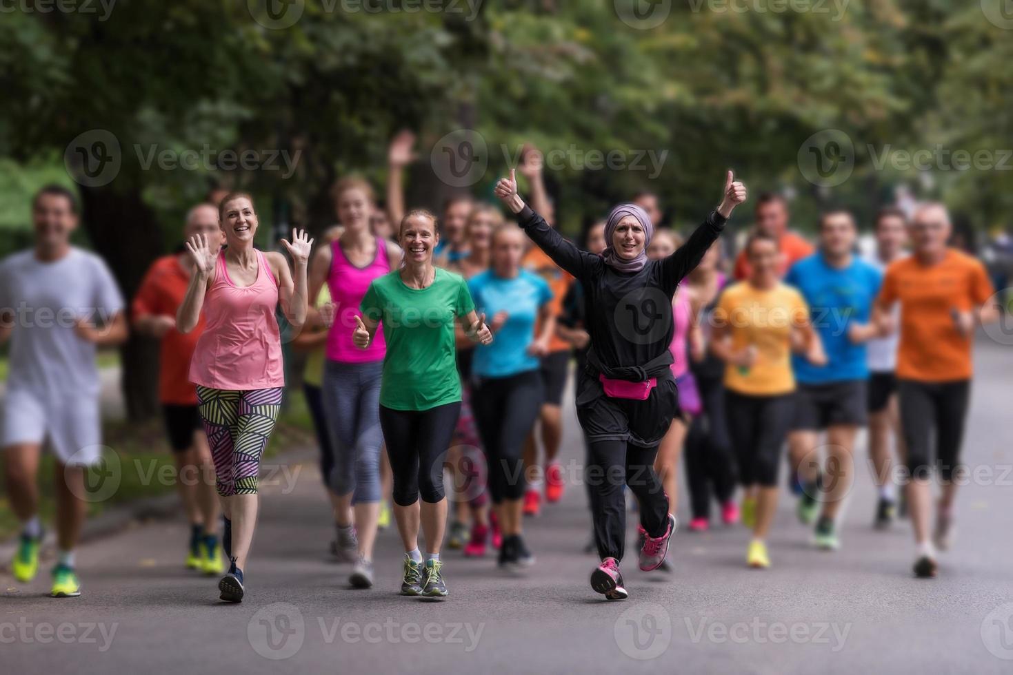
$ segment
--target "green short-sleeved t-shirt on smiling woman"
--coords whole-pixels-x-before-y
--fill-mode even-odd
[[[464,277],[438,267],[430,286],[409,288],[394,270],[373,279],[359,309],[383,322],[381,406],[428,410],[461,400],[454,321],[475,309]]]

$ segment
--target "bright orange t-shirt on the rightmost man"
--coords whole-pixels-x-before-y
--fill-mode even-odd
[[[972,310],[993,292],[985,266],[955,249],[934,265],[914,255],[890,264],[876,303],[886,310],[901,303],[897,375],[922,382],[968,379],[972,337],[956,329],[952,311]]]

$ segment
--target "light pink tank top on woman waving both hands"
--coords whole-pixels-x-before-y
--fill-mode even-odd
[[[224,390],[285,387],[282,338],[275,318],[278,281],[263,253],[256,252],[256,280],[240,288],[229,278],[225,252],[204,301],[207,328],[190,361],[194,385]]]

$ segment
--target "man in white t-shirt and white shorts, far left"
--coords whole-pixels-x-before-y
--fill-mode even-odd
[[[77,200],[60,186],[32,201],[34,246],[0,261],[0,343],[10,339],[0,414],[7,494],[22,523],[11,570],[38,571],[37,474],[44,442],[56,456],[57,539],[53,597],[80,595],[74,546],[88,508],[87,468],[101,460],[95,352],[127,339],[124,299],[102,260],[70,245]],[[94,499],[94,497],[91,497]]]

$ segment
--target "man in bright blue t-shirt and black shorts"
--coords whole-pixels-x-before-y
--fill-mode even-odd
[[[792,265],[784,278],[809,306],[827,353],[822,366],[792,357],[797,390],[788,446],[802,481],[798,517],[806,524],[816,520],[813,541],[830,550],[840,545],[835,518],[854,481],[855,437],[867,419],[865,341],[876,336],[869,321],[882,282],[874,266],[853,254],[857,234],[848,212],[825,214],[820,250]],[[825,472],[821,431],[827,432]]]

